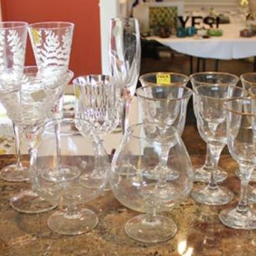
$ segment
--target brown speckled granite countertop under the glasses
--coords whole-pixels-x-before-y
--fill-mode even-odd
[[[188,147],[194,166],[204,163],[205,145],[195,127],[186,127],[184,142]],[[14,161],[12,155],[1,155],[0,166]],[[80,236],[62,236],[47,227],[47,218],[54,212],[44,214],[20,214],[9,204],[10,196],[29,188],[26,182],[0,180],[0,255],[1,256],[255,256],[256,232],[227,228],[218,220],[218,212],[236,204],[239,196],[239,180],[234,176],[236,162],[223,152],[220,166],[228,172],[224,186],[235,193],[228,205],[209,207],[199,205],[190,197],[182,205],[163,215],[177,223],[177,235],[164,243],[145,244],[127,237],[124,225],[137,212],[118,203],[111,191],[81,205],[95,211],[99,224],[92,232]],[[196,186],[196,184],[195,184]]]

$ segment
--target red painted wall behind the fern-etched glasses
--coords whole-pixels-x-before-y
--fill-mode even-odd
[[[1,6],[6,21],[73,22],[70,69],[75,76],[101,72],[99,0],[1,0]],[[29,42],[26,65],[34,63]]]

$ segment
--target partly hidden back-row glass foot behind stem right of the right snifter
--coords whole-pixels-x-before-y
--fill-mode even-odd
[[[209,182],[211,177],[211,170],[209,168],[206,168],[205,166],[199,167],[195,169],[194,172],[194,181],[195,182]],[[227,179],[228,175],[227,172],[225,172],[220,167],[215,173],[215,179],[218,183],[223,182],[225,179]]]

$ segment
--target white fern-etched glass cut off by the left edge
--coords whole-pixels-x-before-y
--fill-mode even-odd
[[[0,77],[8,79],[10,76],[19,77],[22,74],[27,42],[26,22],[0,22]],[[13,74],[9,74],[10,68]],[[1,169],[3,180],[19,182],[28,180],[28,169],[20,161],[20,132],[13,124],[15,137],[15,152],[17,161]]]

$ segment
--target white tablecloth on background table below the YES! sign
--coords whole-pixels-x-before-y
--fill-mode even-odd
[[[177,52],[199,58],[230,60],[256,56],[256,36],[240,37],[239,31],[243,28],[242,24],[221,24],[223,36],[207,39],[177,38],[176,36],[170,38],[150,36],[147,39],[156,40]]]

